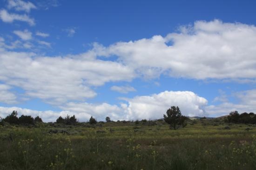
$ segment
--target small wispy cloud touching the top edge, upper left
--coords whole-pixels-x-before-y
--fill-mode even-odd
[[[7,7],[9,9],[14,8],[16,11],[30,12],[31,9],[36,9],[36,6],[31,2],[24,2],[22,0],[8,0]]]

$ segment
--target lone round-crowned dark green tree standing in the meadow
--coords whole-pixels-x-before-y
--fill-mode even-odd
[[[179,107],[172,106],[169,108],[166,112],[167,115],[163,115],[164,121],[170,125],[170,129],[176,130],[178,127],[182,126],[185,127],[187,126],[186,116],[182,116],[182,113],[180,111]]]

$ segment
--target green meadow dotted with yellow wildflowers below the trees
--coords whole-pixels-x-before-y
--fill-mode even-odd
[[[253,170],[256,126],[162,120],[0,126],[0,170]]]

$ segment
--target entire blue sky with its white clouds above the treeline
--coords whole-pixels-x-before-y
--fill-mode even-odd
[[[0,117],[256,113],[254,0],[0,0]]]

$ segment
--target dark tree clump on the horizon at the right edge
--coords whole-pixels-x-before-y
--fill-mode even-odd
[[[244,123],[244,124],[256,124],[256,114],[254,113],[242,113],[237,111],[230,112],[229,116],[225,118],[225,122],[228,123]]]

